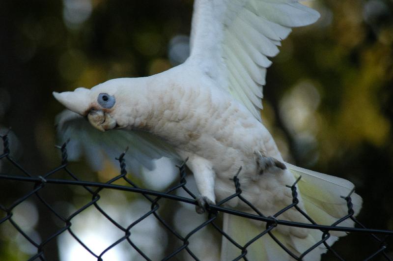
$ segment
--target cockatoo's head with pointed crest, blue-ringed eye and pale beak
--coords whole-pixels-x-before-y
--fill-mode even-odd
[[[74,91],[53,92],[53,95],[70,111],[87,117],[100,131],[120,127],[116,121],[116,98],[119,95],[115,85],[104,83],[91,89],[80,87]]]

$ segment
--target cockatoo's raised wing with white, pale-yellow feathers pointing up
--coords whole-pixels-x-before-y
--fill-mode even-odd
[[[292,27],[318,18],[298,0],[196,0],[189,62],[260,120],[268,57],[279,53],[277,46]]]

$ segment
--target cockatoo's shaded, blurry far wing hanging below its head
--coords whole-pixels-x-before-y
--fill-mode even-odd
[[[154,159],[167,157],[177,160],[173,148],[159,138],[145,132],[111,130],[101,132],[79,114],[64,110],[56,116],[57,134],[61,141],[69,139],[68,159],[86,157],[94,170],[101,170],[104,158],[115,162],[115,158],[128,147],[124,157],[126,166],[134,174],[141,172],[141,166],[154,169]]]

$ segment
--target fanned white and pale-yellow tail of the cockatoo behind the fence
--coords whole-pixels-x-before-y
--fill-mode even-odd
[[[297,184],[299,199],[304,203],[304,211],[317,224],[332,225],[339,218],[348,214],[347,203],[341,196],[346,197],[353,190],[354,185],[351,182],[339,177],[299,168],[288,163],[285,163],[285,165],[296,178],[302,176]],[[362,198],[353,193],[351,199],[353,210],[355,215],[357,215],[362,206]],[[337,226],[353,227],[354,222],[347,219]],[[223,229],[239,245],[244,246],[265,230],[265,223],[257,224],[246,218],[224,214]],[[297,257],[322,238],[322,232],[319,230],[309,229],[307,231],[307,237],[300,238],[291,232],[272,230],[274,236]],[[330,232],[330,234],[330,238],[326,241],[328,245],[336,242],[339,236],[346,235],[345,232]],[[326,251],[325,246],[321,244],[309,252],[303,260],[318,261]],[[241,250],[223,236],[221,253],[221,261],[227,261],[240,256]],[[246,257],[250,261],[293,260],[268,234],[263,235],[247,247]]]

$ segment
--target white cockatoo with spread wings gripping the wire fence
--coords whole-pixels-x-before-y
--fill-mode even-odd
[[[271,216],[292,203],[292,185],[301,175],[298,206],[317,224],[331,225],[347,214],[346,196],[354,185],[342,178],[305,170],[281,157],[269,131],[262,124],[262,87],[268,57],[292,27],[306,26],[319,18],[318,12],[298,0],[195,0],[190,57],[168,71],[143,78],[113,79],[91,89],[54,92],[70,111],[86,117],[105,133],[91,132],[73,124],[69,113],[60,118],[63,135],[82,133],[80,139],[99,150],[128,154],[134,163],[151,167],[161,156],[185,160],[193,172],[200,196],[198,212],[235,193],[231,178],[238,174],[242,196],[263,215]],[[87,151],[92,157],[94,151]],[[352,194],[357,215],[362,199]],[[227,206],[254,213],[238,198]],[[276,218],[309,221],[294,208]],[[340,226],[354,226],[345,220]],[[224,215],[224,230],[238,244],[245,245],[266,224]],[[301,256],[323,232],[277,226],[275,237],[294,255]],[[332,245],[344,232],[331,232]],[[320,260],[324,244],[303,260]],[[233,260],[241,250],[226,238],[221,259]],[[247,259],[292,260],[269,235],[247,248]]]

